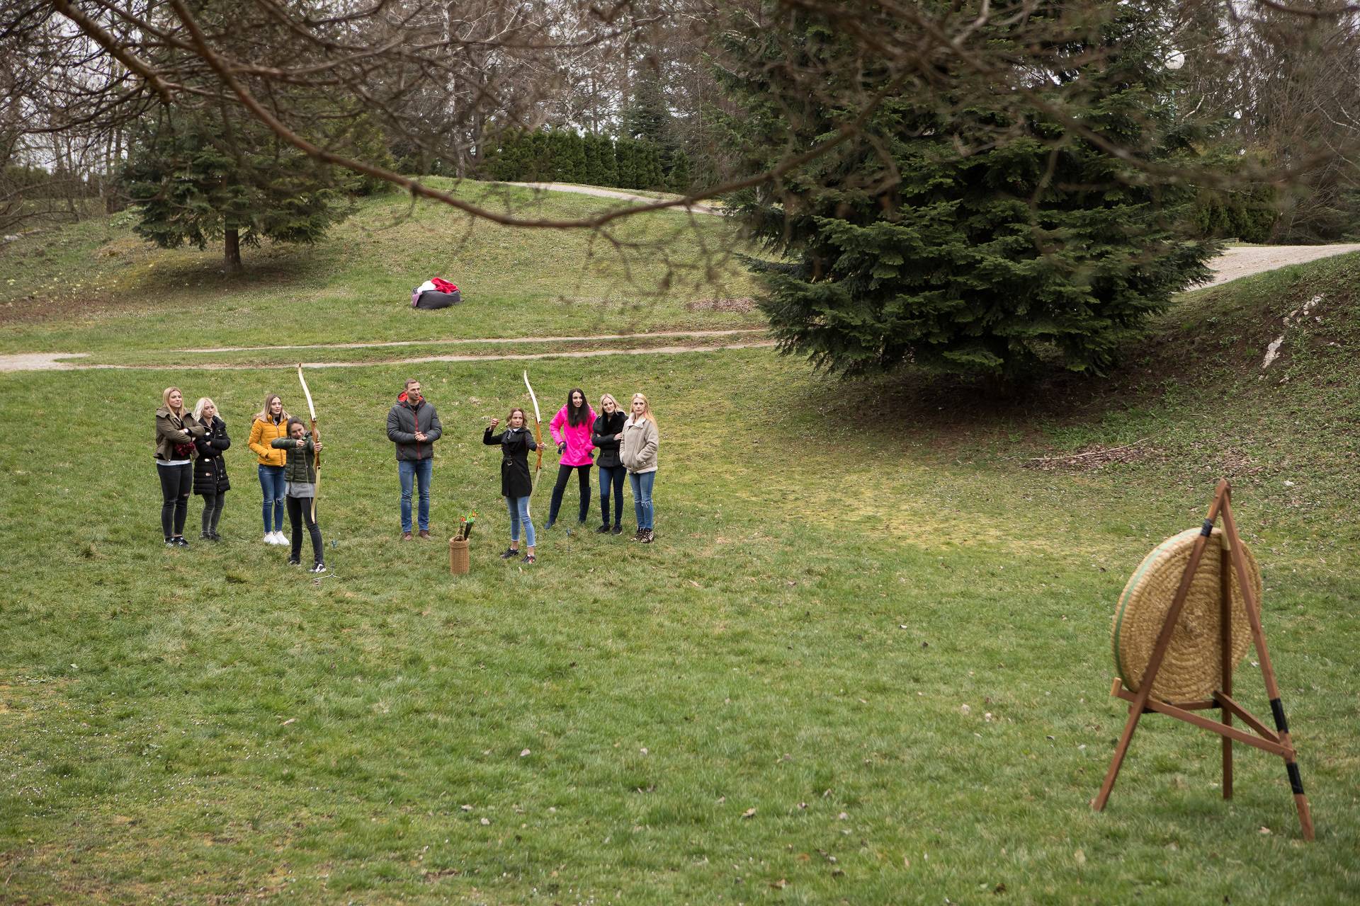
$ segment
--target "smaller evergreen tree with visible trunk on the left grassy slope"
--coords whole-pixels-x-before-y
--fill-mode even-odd
[[[316,242],[348,215],[359,189],[347,171],[318,166],[258,121],[226,109],[163,107],[132,136],[122,181],[139,206],[137,235],[165,249],[223,239],[227,272],[261,238]]]

